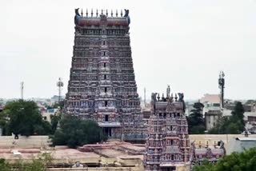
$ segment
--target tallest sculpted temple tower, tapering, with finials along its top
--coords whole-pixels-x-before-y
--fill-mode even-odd
[[[130,50],[129,10],[75,9],[74,54],[66,113],[98,121],[109,137],[143,137],[142,114]],[[145,127],[144,127],[145,128]]]

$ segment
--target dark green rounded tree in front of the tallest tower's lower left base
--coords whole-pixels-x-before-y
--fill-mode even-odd
[[[95,121],[65,116],[60,121],[60,128],[51,139],[53,145],[68,145],[70,148],[75,148],[79,145],[106,141],[106,136]]]

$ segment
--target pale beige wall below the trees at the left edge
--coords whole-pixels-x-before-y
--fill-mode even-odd
[[[50,145],[48,136],[0,136],[0,149],[3,148],[47,148]]]

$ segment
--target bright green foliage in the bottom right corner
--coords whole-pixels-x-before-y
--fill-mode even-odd
[[[193,171],[243,171],[256,170],[256,148],[246,149],[242,153],[231,153],[222,157],[216,165],[205,161],[195,165]]]

